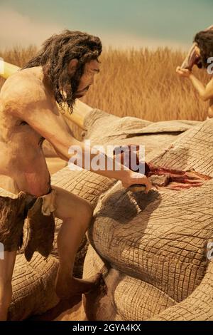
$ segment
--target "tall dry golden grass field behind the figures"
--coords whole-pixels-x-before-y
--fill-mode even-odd
[[[0,56],[23,66],[36,53],[35,46],[0,51]],[[151,51],[109,48],[100,58],[101,73],[83,98],[85,103],[108,113],[131,115],[146,120],[204,120],[207,103],[197,96],[186,78],[179,78],[175,68],[182,63],[185,53],[169,48]],[[206,83],[206,72],[195,70]],[[1,80],[0,87],[4,81]]]

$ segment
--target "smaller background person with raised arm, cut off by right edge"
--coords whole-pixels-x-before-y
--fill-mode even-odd
[[[178,66],[176,72],[186,78],[190,78],[192,85],[196,88],[202,100],[209,100],[209,109],[207,118],[213,118],[213,78],[207,86],[204,86],[199,79],[192,74],[192,67],[197,64],[199,68],[208,68],[210,63],[208,59],[213,57],[213,26],[206,31],[197,33],[194,39],[194,45],[187,57],[186,64]],[[212,58],[213,59],[213,58]]]

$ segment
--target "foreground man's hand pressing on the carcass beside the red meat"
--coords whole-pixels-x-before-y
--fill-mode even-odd
[[[146,177],[146,175],[142,175],[141,173],[133,172],[131,170],[128,171],[128,174],[126,174],[126,177],[122,179],[121,182],[125,188],[128,188],[129,186],[135,185],[135,184],[145,185],[146,194],[151,190],[153,186],[151,181],[148,180],[148,177]]]

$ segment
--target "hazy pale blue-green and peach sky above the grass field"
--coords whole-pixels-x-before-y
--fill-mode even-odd
[[[106,46],[187,48],[213,24],[213,0],[0,0],[0,47],[40,44],[62,29]]]

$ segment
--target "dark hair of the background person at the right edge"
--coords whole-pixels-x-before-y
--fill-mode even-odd
[[[207,68],[209,66],[208,58],[213,57],[213,30],[200,31],[195,35],[194,42],[200,48],[202,66]]]

